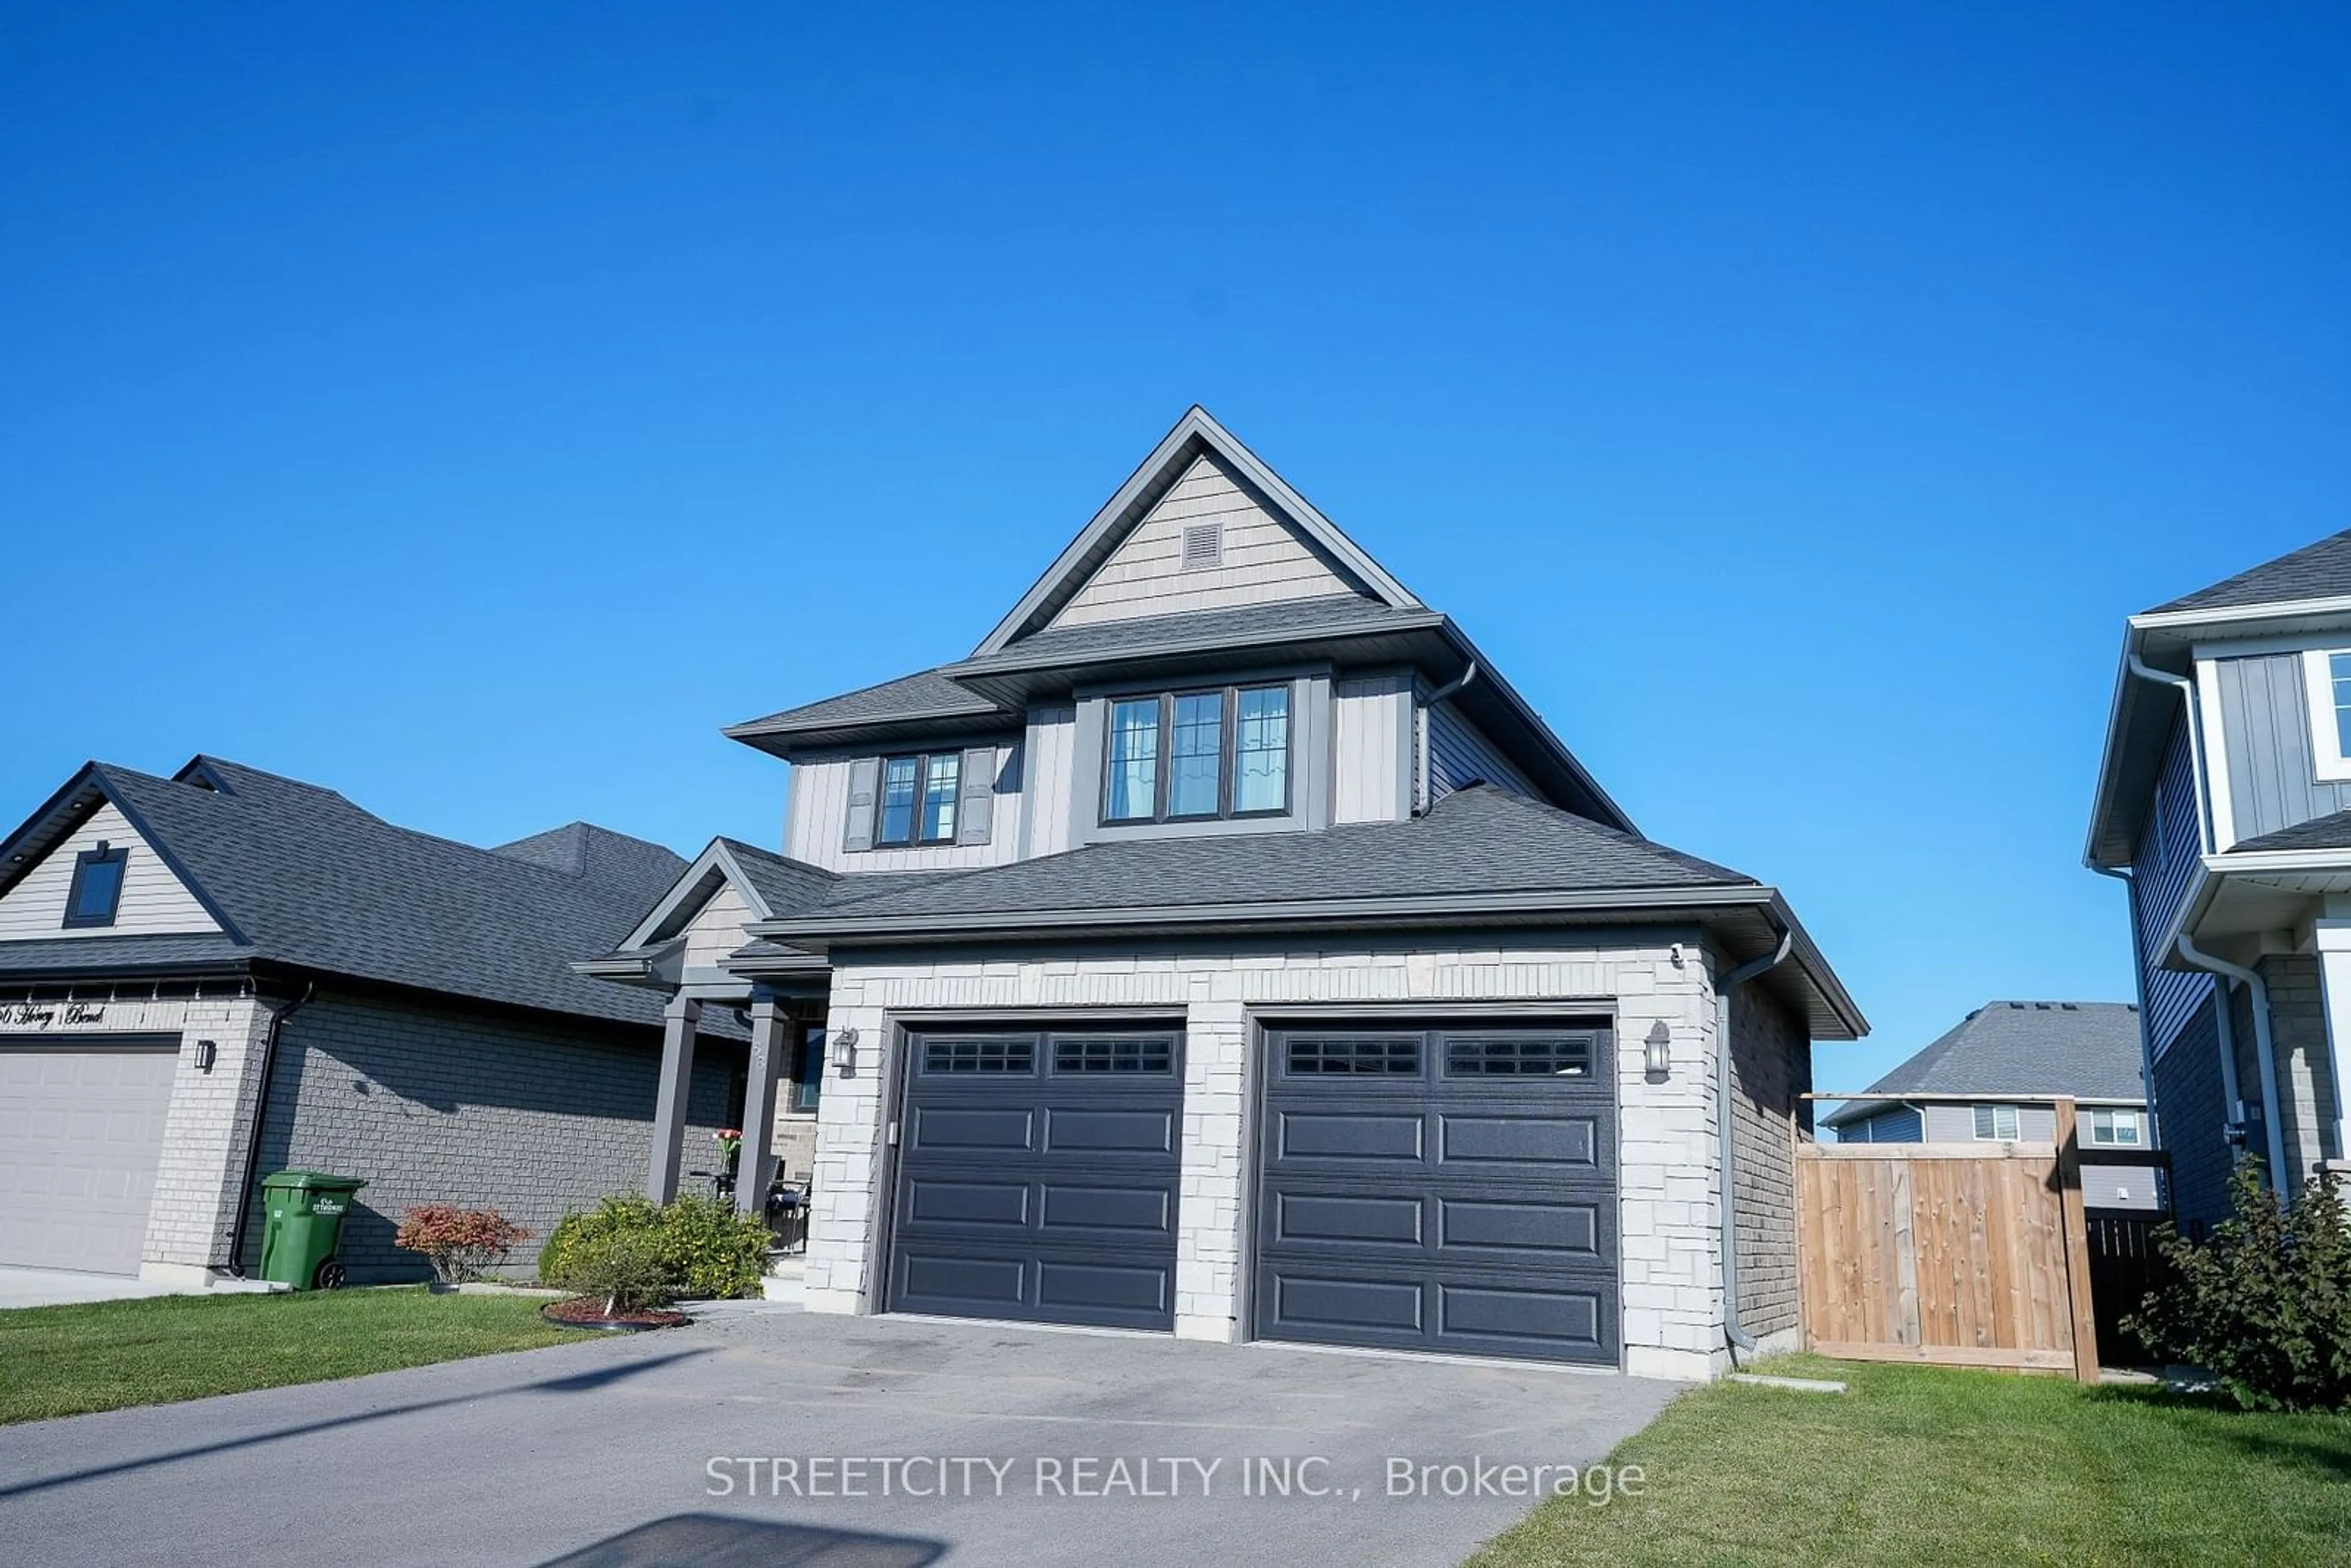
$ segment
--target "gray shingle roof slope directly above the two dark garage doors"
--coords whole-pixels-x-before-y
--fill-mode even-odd
[[[809,914],[999,914],[1314,898],[1603,891],[1747,884],[1742,872],[1589,818],[1505,795],[1455,790],[1427,816],[1321,832],[1117,839],[987,870],[844,879]],[[863,884],[889,882],[886,889]]]

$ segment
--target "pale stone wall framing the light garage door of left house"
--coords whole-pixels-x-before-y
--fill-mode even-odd
[[[0,1034],[38,1034],[59,1044],[71,1044],[78,1034],[179,1034],[179,1067],[172,1074],[172,1107],[165,1112],[139,1274],[167,1284],[202,1284],[207,1265],[228,1258],[228,1232],[237,1222],[273,1004],[235,990],[136,999],[103,987],[80,987],[75,1001],[96,1009],[96,1016],[63,1023],[68,1001],[0,999]],[[195,1065],[202,1039],[214,1044],[212,1072]]]

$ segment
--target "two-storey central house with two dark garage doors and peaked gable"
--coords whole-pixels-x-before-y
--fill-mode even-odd
[[[1794,1342],[1799,1095],[1860,1009],[1206,411],[969,656],[726,733],[792,764],[781,856],[712,844],[581,969],[668,1009],[656,1197],[712,1009],[745,1204],[816,1098],[809,1309]]]

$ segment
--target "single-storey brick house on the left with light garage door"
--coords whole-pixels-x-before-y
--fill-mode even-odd
[[[635,1190],[661,1006],[569,959],[682,865],[588,823],[473,849],[219,757],[85,766],[0,844],[0,1265],[252,1269],[277,1168],[367,1178],[362,1281],[426,1272],[393,1248],[411,1204],[543,1237]],[[708,1027],[705,1138],[743,1063]]]

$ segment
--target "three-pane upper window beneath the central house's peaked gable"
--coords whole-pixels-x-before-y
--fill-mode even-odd
[[[1291,806],[1291,689],[1114,698],[1105,750],[1105,823],[1279,816]]]

